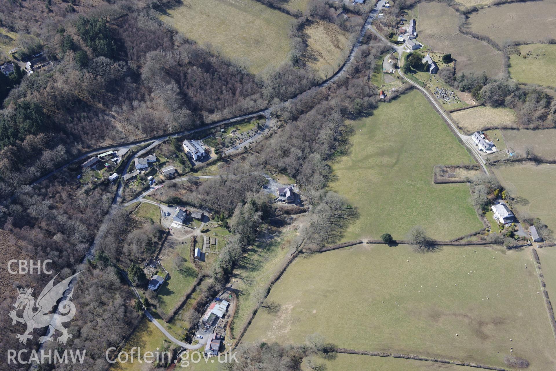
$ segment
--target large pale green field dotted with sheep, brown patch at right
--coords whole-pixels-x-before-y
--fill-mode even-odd
[[[244,341],[301,344],[319,333],[341,348],[497,367],[512,347],[545,371],[556,344],[539,291],[529,249],[357,245],[294,261],[268,298],[280,310],[259,311]]]

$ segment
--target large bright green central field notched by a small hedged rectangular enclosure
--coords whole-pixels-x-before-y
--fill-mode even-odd
[[[332,165],[331,188],[360,212],[344,239],[386,232],[403,239],[415,225],[436,239],[481,229],[468,185],[433,184],[435,165],[467,164],[471,157],[425,98],[413,91],[373,113],[351,122],[353,147]]]

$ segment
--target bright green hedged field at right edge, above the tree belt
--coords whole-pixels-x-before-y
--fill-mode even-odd
[[[556,87],[556,44],[520,45],[519,52],[510,55],[514,80]]]

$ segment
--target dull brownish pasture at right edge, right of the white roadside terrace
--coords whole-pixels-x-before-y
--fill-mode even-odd
[[[502,130],[506,144],[520,155],[531,147],[538,156],[556,159],[556,129]]]

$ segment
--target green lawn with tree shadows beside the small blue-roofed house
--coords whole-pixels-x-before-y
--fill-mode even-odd
[[[173,263],[173,254],[176,252],[187,260],[180,268]],[[170,279],[158,290],[158,301],[165,313],[168,313],[180,302],[183,294],[190,290],[197,278],[197,271],[190,261],[189,240],[186,239],[183,244],[171,244],[168,239],[160,254],[160,263],[170,274]],[[163,275],[163,270],[160,270],[159,274]]]

